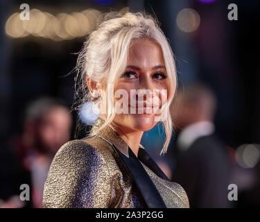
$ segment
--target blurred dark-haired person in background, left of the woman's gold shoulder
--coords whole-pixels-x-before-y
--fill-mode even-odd
[[[16,155],[31,175],[32,206],[42,207],[44,182],[58,148],[71,137],[72,117],[62,101],[41,98],[26,109],[24,128],[17,139]]]

